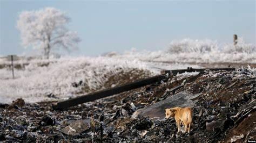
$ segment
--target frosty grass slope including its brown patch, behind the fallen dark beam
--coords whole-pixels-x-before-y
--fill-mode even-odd
[[[161,69],[190,66],[107,57],[16,62],[29,64],[24,69],[15,69],[15,79],[12,79],[10,68],[0,69],[0,102],[10,103],[20,97],[25,102],[54,99],[49,98],[49,94],[56,98],[69,98],[153,76]]]

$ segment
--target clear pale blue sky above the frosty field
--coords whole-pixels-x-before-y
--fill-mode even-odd
[[[157,51],[173,39],[255,44],[256,1],[4,1],[0,0],[0,55],[29,53],[21,46],[18,14],[47,6],[65,11],[67,27],[82,41],[72,55],[100,55],[131,48]]]

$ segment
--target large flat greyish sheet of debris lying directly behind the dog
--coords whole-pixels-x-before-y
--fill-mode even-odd
[[[166,108],[173,108],[176,106],[185,107],[190,106],[193,107],[194,103],[197,100],[192,101],[191,99],[198,97],[200,94],[192,95],[187,91],[179,92],[176,95],[173,95],[169,98],[164,99],[156,104],[151,106],[147,106],[143,109],[139,109],[135,111],[132,115],[132,118],[137,118],[140,116],[148,116],[150,118],[159,117],[163,119],[165,117],[165,109]]]

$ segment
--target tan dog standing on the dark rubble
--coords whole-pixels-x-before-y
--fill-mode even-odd
[[[185,132],[186,131],[188,133],[190,132],[192,116],[193,116],[193,111],[189,107],[186,107],[186,108],[176,107],[176,108],[165,109],[165,118],[168,119],[170,117],[174,117],[178,126],[178,132],[180,131],[181,123],[183,123],[183,125],[185,126]]]

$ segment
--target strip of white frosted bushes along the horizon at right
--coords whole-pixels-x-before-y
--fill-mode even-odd
[[[161,51],[130,51],[115,56],[169,63],[256,63],[255,55],[255,45],[247,44],[239,38],[236,46],[233,42],[221,44],[213,40],[173,40],[169,47]]]

